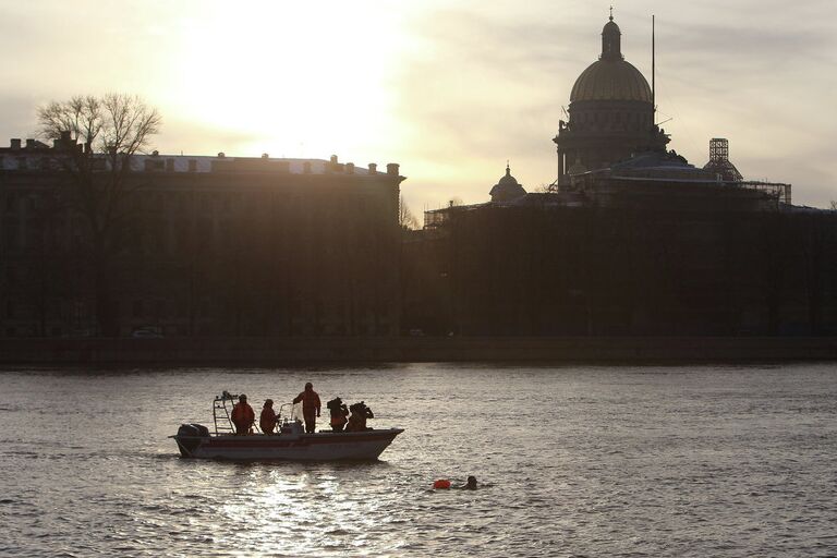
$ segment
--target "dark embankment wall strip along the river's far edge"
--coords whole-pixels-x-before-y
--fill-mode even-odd
[[[0,339],[0,364],[837,361],[837,337]]]

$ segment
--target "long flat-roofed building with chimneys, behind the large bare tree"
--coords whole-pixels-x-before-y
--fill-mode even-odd
[[[0,336],[98,333],[89,229],[57,162],[74,144],[0,149]],[[337,157],[134,157],[120,335],[397,335],[402,180]]]

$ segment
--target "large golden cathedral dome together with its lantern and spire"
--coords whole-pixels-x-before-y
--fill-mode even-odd
[[[584,70],[570,93],[570,102],[579,100],[639,100],[652,102],[651,87],[621,52],[621,31],[614,16],[602,29],[602,56]]]

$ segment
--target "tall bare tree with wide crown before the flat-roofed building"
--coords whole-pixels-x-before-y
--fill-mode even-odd
[[[61,184],[64,201],[87,227],[100,333],[116,336],[112,264],[124,247],[134,213],[129,201],[140,185],[130,179],[131,159],[159,132],[162,119],[140,97],[124,94],[52,101],[37,114],[41,135],[60,147],[54,162],[66,178]]]

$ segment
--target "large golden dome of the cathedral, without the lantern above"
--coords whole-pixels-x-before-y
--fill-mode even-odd
[[[651,87],[642,73],[624,60],[598,60],[584,70],[570,93],[577,100],[640,100],[651,102]]]

